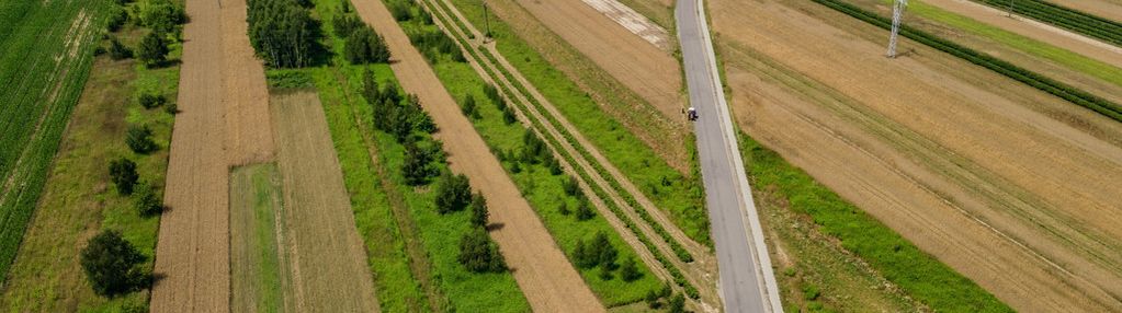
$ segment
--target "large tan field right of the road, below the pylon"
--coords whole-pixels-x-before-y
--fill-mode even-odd
[[[808,1],[709,6],[754,137],[1014,309],[1122,307],[1118,123]]]

